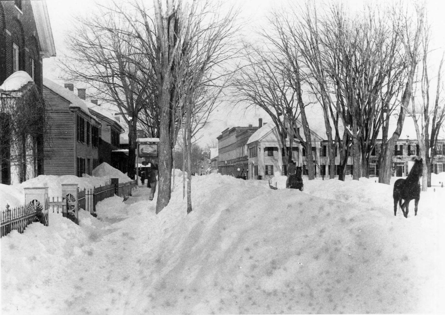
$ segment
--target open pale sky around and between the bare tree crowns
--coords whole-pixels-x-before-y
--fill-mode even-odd
[[[322,0],[318,1],[321,2]],[[110,0],[97,0],[96,2],[106,4]],[[147,1],[151,3],[151,1]],[[361,8],[363,2],[361,0],[344,0],[351,9]],[[373,3],[379,1],[373,1]],[[380,1],[382,3],[384,1]],[[94,1],[92,0],[76,0],[76,1],[61,1],[61,0],[46,0],[49,12],[51,27],[53,30],[54,43],[56,45],[57,56],[63,56],[65,52],[65,34],[67,30],[75,23],[73,16],[88,15],[88,12],[93,9]],[[242,0],[234,3],[241,4],[240,16],[248,20],[249,25],[254,28],[264,21],[264,16],[273,7],[287,3],[287,0]],[[437,48],[433,58],[439,59],[442,51],[445,49],[445,18],[443,0],[428,0],[427,8],[430,23],[433,26],[432,47]],[[56,59],[58,57],[44,59],[44,76],[59,83],[63,81],[59,79],[60,70],[57,68]],[[434,70],[436,72],[437,70]],[[79,86],[81,87],[81,86]],[[88,94],[88,91],[87,91]],[[230,113],[227,113],[228,110]],[[205,128],[202,139],[199,144],[205,146],[211,141],[216,141],[216,137],[227,127],[247,126],[249,124],[258,125],[258,118],[263,118],[263,122],[270,122],[265,112],[261,109],[249,109],[247,112],[238,107],[233,108],[231,104],[227,104],[225,108],[220,108],[218,113],[214,116],[213,121]],[[316,122],[317,125],[322,125],[321,120]],[[312,126],[311,126],[312,127]],[[317,129],[317,128],[315,128]]]

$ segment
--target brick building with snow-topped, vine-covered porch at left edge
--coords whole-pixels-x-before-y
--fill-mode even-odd
[[[0,182],[44,174],[42,58],[56,56],[45,1],[0,1]]]

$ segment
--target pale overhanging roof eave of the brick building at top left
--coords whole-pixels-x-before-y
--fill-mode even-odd
[[[46,1],[31,1],[34,20],[39,34],[40,53],[42,58],[56,57],[56,46],[54,45],[53,31],[49,22]]]

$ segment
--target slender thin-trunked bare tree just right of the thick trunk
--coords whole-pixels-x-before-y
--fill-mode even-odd
[[[174,69],[175,82],[182,109],[185,112],[183,141],[186,151],[187,213],[192,211],[191,174],[193,171],[191,150],[193,135],[205,125],[210,113],[232,71],[224,67],[236,54],[233,50],[235,13],[229,10],[223,15],[216,12],[222,3],[195,1],[186,7],[187,16],[182,33],[182,49],[178,50]]]

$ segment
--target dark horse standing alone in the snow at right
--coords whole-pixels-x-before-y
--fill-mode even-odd
[[[422,176],[422,158],[414,162],[414,166],[406,179],[397,179],[394,183],[392,198],[394,198],[394,215],[397,212],[397,202],[402,209],[405,218],[408,218],[409,202],[414,199],[414,215],[417,215],[417,204],[420,199],[420,183],[419,178]],[[404,200],[402,204],[402,199]],[[406,209],[406,210],[404,210]]]

